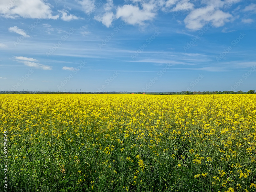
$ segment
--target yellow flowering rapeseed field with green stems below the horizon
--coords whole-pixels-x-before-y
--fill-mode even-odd
[[[0,95],[0,131],[10,191],[256,191],[255,94]]]

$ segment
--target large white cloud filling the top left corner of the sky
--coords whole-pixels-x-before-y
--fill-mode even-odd
[[[42,0],[1,0],[0,15],[5,18],[57,19],[59,15],[52,15],[51,6]]]

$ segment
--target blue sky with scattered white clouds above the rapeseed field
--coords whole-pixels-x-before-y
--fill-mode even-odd
[[[256,90],[252,0],[2,0],[0,88]]]

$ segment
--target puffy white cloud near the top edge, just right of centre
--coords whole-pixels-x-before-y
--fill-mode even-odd
[[[146,20],[152,20],[156,13],[154,13],[154,4],[143,4],[143,9],[134,5],[124,5],[118,7],[116,10],[116,18],[122,18],[125,22],[131,25],[145,25]]]

